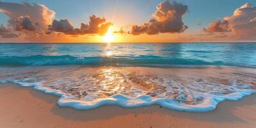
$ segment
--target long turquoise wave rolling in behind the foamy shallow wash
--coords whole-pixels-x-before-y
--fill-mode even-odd
[[[134,66],[172,66],[172,65],[227,65],[222,61],[204,61],[190,58],[163,58],[161,56],[120,57],[76,57],[63,56],[2,56],[0,65],[134,65]]]

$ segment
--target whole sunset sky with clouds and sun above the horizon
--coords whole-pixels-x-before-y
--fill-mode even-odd
[[[255,0],[0,0],[0,42],[256,42],[255,6]]]

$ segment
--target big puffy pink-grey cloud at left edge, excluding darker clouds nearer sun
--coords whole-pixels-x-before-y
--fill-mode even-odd
[[[17,31],[24,33],[22,38],[44,36],[54,18],[55,12],[42,4],[8,3],[0,1],[0,12],[8,16],[9,35],[4,38],[17,37]]]

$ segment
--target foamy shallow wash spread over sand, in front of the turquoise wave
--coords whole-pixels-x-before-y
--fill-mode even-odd
[[[238,67],[16,67],[1,68],[12,81],[61,95],[59,104],[91,109],[160,104],[184,111],[210,111],[218,102],[255,93],[256,70]]]

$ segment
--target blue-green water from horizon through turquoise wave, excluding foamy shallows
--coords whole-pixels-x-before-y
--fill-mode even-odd
[[[256,66],[256,44],[0,44],[1,65]]]

